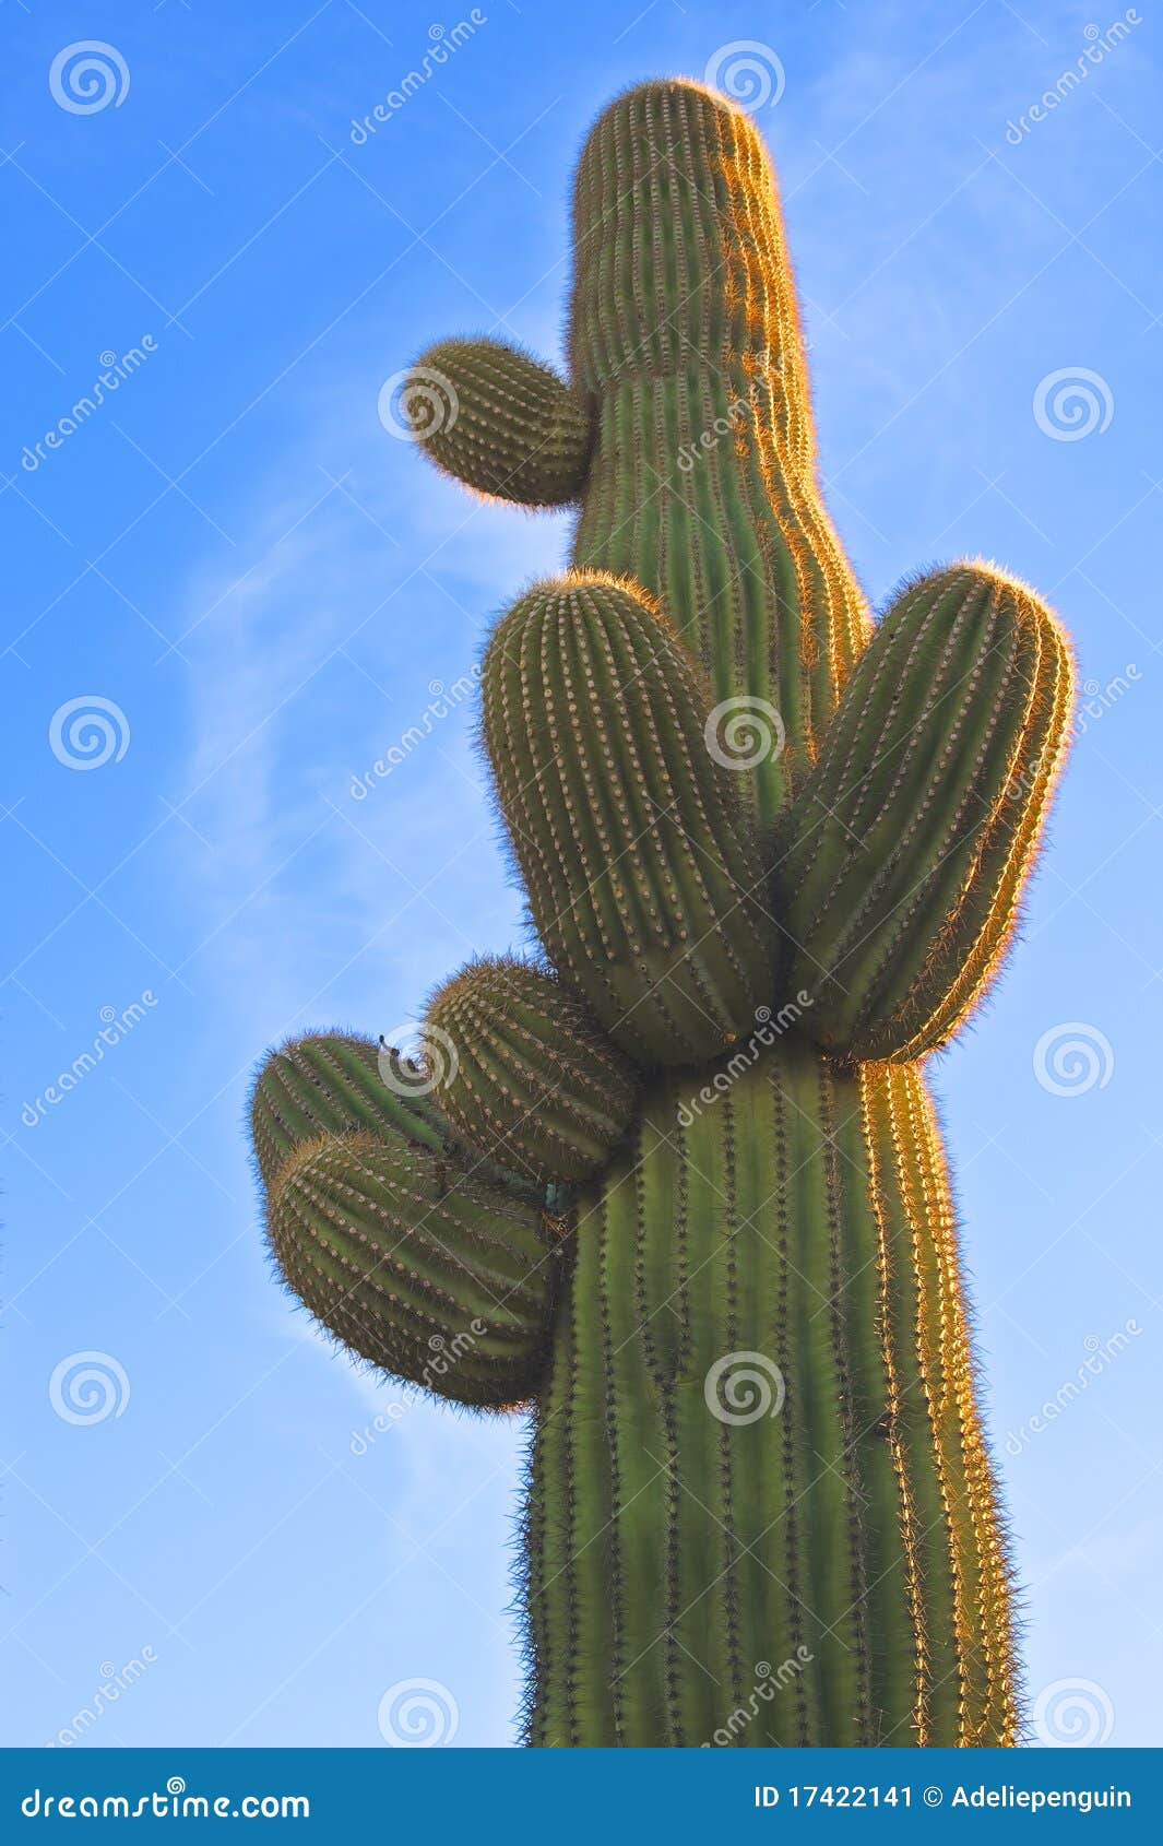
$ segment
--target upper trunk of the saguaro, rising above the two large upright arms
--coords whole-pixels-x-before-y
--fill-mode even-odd
[[[814,761],[869,620],[816,485],[762,142],[694,85],[635,90],[589,137],[574,234],[574,375],[594,402],[574,565],[659,596],[716,701],[779,713],[786,749],[740,775],[764,825]]]

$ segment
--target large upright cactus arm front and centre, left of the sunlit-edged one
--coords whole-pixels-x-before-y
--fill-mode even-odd
[[[524,596],[484,668],[484,737],[534,923],[646,1063],[713,1056],[768,995],[772,927],[707,694],[631,585]]]

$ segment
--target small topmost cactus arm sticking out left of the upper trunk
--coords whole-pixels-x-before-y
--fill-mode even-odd
[[[404,408],[447,474],[497,500],[561,506],[585,485],[591,417],[569,384],[500,340],[441,340],[417,360]]]

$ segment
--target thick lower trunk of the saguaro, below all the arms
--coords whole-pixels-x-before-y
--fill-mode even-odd
[[[535,1744],[1010,1744],[1010,1588],[916,1065],[666,1078],[578,1200],[528,1504]],[[714,1408],[713,1408],[714,1407]]]

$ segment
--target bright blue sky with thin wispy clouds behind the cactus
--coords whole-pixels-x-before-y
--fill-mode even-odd
[[[513,1741],[522,1431],[397,1416],[292,1311],[244,1097],[270,1041],[388,1032],[522,940],[471,700],[351,785],[471,674],[569,522],[439,480],[380,388],[449,332],[558,360],[587,122],[755,39],[869,596],[980,552],[1078,642],[1089,714],[1025,938],[936,1082],[1030,1689],[1060,1728],[1078,1708],[1159,1741],[1161,46],[1148,9],[1087,7],[486,0],[358,144],[467,9],[6,0],[11,1741],[116,1687],[85,1743],[380,1746],[382,1695],[415,1678],[454,1696],[458,1743]],[[92,39],[120,65],[78,113],[50,68]],[[109,354],[116,391],[44,447]],[[109,761],[78,768],[54,714],[94,698]],[[120,1414],[54,1408],[83,1353]]]

